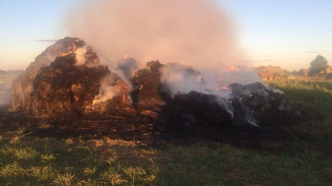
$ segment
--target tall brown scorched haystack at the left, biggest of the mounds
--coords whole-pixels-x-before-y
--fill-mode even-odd
[[[48,47],[12,83],[12,110],[38,117],[114,113],[130,107],[129,87],[78,38]]]

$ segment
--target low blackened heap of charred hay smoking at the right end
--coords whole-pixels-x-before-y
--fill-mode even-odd
[[[195,91],[176,94],[168,109],[169,123],[193,130],[271,127],[290,110],[284,94],[259,82],[245,86],[231,84],[219,91],[228,90],[231,90],[229,97]]]

